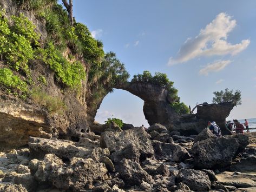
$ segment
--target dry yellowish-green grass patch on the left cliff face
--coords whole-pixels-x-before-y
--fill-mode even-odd
[[[67,108],[60,98],[52,97],[38,88],[32,89],[31,98],[36,104],[45,107],[51,114],[63,114]]]

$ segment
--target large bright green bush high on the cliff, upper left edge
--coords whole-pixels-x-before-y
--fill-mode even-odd
[[[16,71],[21,69],[27,76],[30,74],[28,61],[34,58],[32,47],[38,45],[39,36],[34,29],[35,26],[23,14],[12,16],[9,22],[0,12],[1,61]]]

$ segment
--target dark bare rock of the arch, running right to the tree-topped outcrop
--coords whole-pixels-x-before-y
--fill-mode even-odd
[[[170,107],[171,101],[165,87],[148,82],[126,82],[114,88],[126,90],[144,101],[143,113],[149,125],[160,123],[170,131],[175,130],[183,135],[192,135],[199,134],[206,128],[208,121],[215,121],[220,125],[222,134],[231,134],[231,131],[225,128],[225,120],[233,109],[232,103],[205,103],[198,107],[197,114],[181,116]]]

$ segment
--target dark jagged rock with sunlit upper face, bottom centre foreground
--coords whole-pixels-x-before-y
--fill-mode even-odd
[[[141,168],[139,163],[125,158],[119,163],[116,170],[119,172],[120,178],[131,186],[139,185],[143,180],[147,182],[152,181],[152,177]]]

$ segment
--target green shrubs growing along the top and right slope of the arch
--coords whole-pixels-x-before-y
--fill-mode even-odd
[[[169,81],[166,74],[156,72],[155,75],[152,76],[149,71],[143,71],[143,74],[134,75],[132,82],[147,82],[166,88],[168,90],[168,101],[170,102],[170,106],[180,115],[188,114],[189,108],[185,103],[180,103],[178,90],[173,87],[173,82]]]

